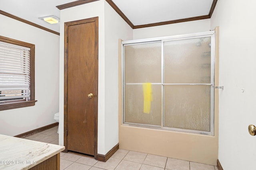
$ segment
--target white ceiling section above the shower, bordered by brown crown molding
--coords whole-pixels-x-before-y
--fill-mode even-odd
[[[213,0],[112,0],[133,25],[208,15]]]

